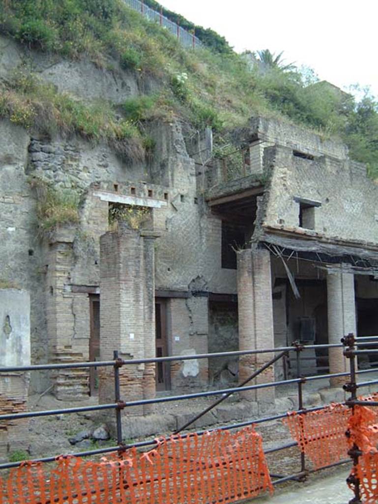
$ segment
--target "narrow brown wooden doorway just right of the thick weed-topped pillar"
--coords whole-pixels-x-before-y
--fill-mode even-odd
[[[167,301],[155,299],[155,330],[156,330],[156,356],[168,355],[167,337]],[[156,390],[171,389],[171,371],[169,362],[157,362],[156,364]]]

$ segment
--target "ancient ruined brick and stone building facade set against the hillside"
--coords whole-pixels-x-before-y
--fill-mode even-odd
[[[1,78],[22,62],[20,47],[6,42]],[[157,85],[124,71],[110,78],[89,61],[30,57],[41,79],[89,100],[120,104]],[[345,145],[253,118],[231,135],[241,160],[235,169],[213,156],[209,130],[193,135],[172,118],[150,122],[148,134],[153,154],[128,162],[107,144],[37,135],[0,120],[0,285],[2,293],[17,288],[30,295],[32,363],[376,334],[378,187]],[[77,221],[41,227],[41,182],[78,195]],[[0,327],[9,340],[7,321]],[[8,344],[7,352],[16,348]],[[304,357],[306,374],[346,365],[339,350]],[[267,358],[135,365],[122,376],[122,390],[152,397],[228,384]],[[261,379],[293,373],[286,359]],[[34,372],[29,390],[105,400],[108,379],[94,369]],[[263,399],[271,401],[270,394]]]

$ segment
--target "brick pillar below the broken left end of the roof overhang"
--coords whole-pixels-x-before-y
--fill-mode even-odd
[[[270,254],[268,250],[243,250],[238,254],[239,349],[274,347]],[[245,355],[239,359],[242,382],[273,354]],[[274,367],[259,375],[254,383],[274,381]],[[251,382],[251,385],[253,382]],[[274,388],[246,391],[243,397],[259,401],[261,408],[274,405]]]

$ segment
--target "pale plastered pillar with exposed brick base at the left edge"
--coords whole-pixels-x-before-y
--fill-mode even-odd
[[[24,290],[0,289],[0,348],[0,366],[30,365],[30,296]],[[29,380],[29,372],[0,373],[3,414],[26,411]],[[0,422],[0,461],[9,452],[25,450],[27,438],[27,418]]]

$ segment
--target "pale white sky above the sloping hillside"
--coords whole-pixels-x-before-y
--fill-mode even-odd
[[[342,89],[378,96],[376,0],[161,0],[167,9],[223,35],[237,52],[269,49]]]

